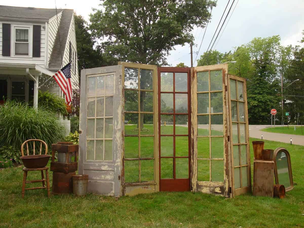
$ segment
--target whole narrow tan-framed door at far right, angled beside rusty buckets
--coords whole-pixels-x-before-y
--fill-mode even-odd
[[[228,74],[232,194],[251,192],[246,81]]]

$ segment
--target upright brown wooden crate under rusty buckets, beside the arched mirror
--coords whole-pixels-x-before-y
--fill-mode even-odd
[[[254,160],[253,195],[273,197],[274,161]]]

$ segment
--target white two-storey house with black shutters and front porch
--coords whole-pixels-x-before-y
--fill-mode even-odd
[[[75,88],[79,82],[76,47],[73,9],[56,12],[0,5],[0,103],[4,97],[36,107],[42,79],[50,78],[70,61]],[[39,89],[62,95],[55,83]]]

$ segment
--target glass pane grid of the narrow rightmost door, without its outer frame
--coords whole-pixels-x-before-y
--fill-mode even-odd
[[[247,119],[245,118],[244,82],[229,79],[232,122],[234,189],[250,186]]]

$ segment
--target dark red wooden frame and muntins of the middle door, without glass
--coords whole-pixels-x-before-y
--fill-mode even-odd
[[[173,73],[173,178],[161,179],[161,72]],[[175,92],[175,73],[187,73],[187,92]],[[191,68],[190,67],[157,67],[158,77],[158,157],[159,157],[159,180],[160,191],[190,191],[191,190]],[[188,95],[188,179],[176,179],[176,159],[175,159],[175,93]],[[166,183],[165,183],[166,182]],[[165,187],[166,186],[166,187]]]

